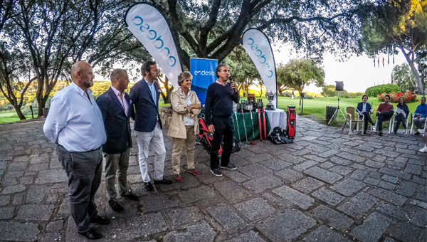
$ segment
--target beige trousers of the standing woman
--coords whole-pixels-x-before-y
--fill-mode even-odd
[[[185,126],[186,139],[172,138],[174,147],[172,149],[172,168],[174,174],[179,174],[181,164],[181,153],[185,147],[187,168],[194,169],[194,143],[196,143],[196,135],[194,135],[194,126]]]

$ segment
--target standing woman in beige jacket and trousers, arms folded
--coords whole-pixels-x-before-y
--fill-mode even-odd
[[[193,76],[188,71],[178,75],[178,90],[171,95],[171,105],[174,112],[169,123],[168,136],[172,137],[172,169],[177,182],[183,179],[179,174],[181,153],[185,146],[187,169],[196,176],[200,172],[194,168],[194,143],[196,134],[199,133],[199,119],[197,115],[201,110],[199,98],[190,90]]]

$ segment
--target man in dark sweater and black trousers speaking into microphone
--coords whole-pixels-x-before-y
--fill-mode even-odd
[[[206,91],[205,119],[209,132],[214,133],[211,143],[211,172],[216,177],[221,177],[222,173],[218,158],[218,151],[223,141],[223,153],[221,156],[221,168],[236,169],[230,162],[233,150],[233,102],[238,103],[240,96],[237,84],[228,83],[230,70],[226,65],[218,65],[215,70],[215,83],[209,85]]]

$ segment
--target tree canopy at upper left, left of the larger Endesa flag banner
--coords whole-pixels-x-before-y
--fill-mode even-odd
[[[93,66],[111,68],[115,61],[130,60],[133,50],[142,49],[122,21],[125,9],[132,4],[130,0],[12,2],[10,18],[2,17],[0,21],[0,24],[4,22],[0,37],[9,46],[8,53],[0,50],[0,56],[25,53],[21,62],[30,63],[31,68],[23,73],[29,71],[34,77],[27,85],[32,80],[37,83],[39,116],[43,115],[43,107],[58,79],[70,78],[70,66],[75,61],[85,60]],[[1,12],[5,9],[2,5]],[[9,60],[6,58],[6,61]]]

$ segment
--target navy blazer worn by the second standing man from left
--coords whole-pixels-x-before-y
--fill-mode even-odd
[[[104,121],[107,142],[102,144],[102,151],[108,154],[120,154],[127,148],[132,147],[132,137],[130,132],[130,117],[134,115],[133,109],[130,108],[130,98],[127,93],[125,100],[129,104],[127,115],[114,91],[110,88],[102,93],[96,103],[100,107],[102,120]]]

